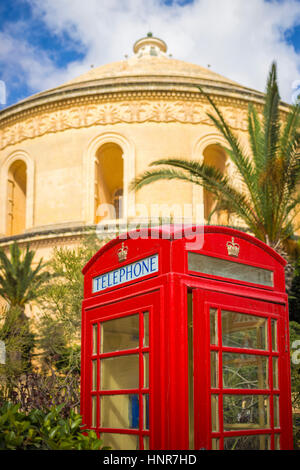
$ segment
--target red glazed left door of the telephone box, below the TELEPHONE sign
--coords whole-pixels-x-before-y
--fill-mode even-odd
[[[158,383],[150,367],[155,361],[153,322],[158,312],[158,292],[84,310],[82,388],[89,400],[84,400],[82,413],[87,427],[114,450],[150,446]]]

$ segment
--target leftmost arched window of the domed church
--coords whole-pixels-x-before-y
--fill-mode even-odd
[[[23,160],[11,164],[7,175],[6,235],[17,235],[26,227],[27,168]]]

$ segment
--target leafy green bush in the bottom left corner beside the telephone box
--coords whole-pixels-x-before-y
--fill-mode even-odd
[[[0,408],[0,449],[100,450],[102,441],[91,430],[82,432],[82,417],[73,410],[62,417],[63,405],[49,410],[20,411],[6,402]]]

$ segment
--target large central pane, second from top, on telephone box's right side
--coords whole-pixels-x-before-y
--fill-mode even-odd
[[[223,387],[269,388],[268,363],[265,356],[223,353]]]

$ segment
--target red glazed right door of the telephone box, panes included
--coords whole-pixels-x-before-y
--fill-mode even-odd
[[[193,323],[194,448],[292,448],[285,306],[195,289]]]

